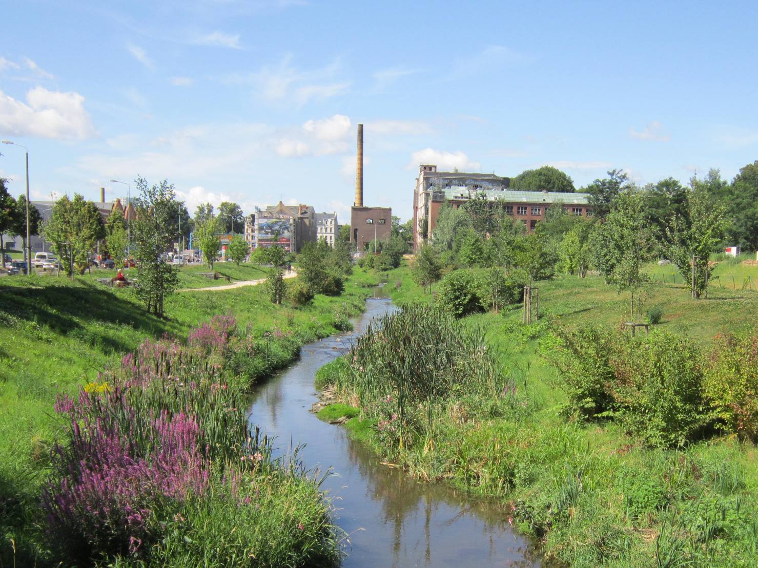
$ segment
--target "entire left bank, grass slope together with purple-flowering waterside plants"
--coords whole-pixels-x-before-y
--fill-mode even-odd
[[[255,379],[289,363],[300,345],[349,328],[349,317],[362,311],[368,293],[362,285],[371,278],[357,270],[346,280],[342,295],[315,295],[300,307],[288,302],[272,305],[264,286],[187,292],[166,298],[163,318],[147,314],[131,289],[108,289],[86,276],[3,279],[0,565],[73,562],[63,548],[75,538],[89,543],[77,547],[81,554],[104,563],[108,558],[107,563],[119,566],[185,566],[190,557],[192,563],[199,558],[214,566],[228,563],[227,555],[255,566],[334,560],[335,533],[318,479],[305,476],[296,461],[288,468],[272,462],[266,457],[271,442],[243,439],[244,393]],[[234,325],[220,329],[219,314],[230,313],[235,314]],[[166,339],[160,339],[164,334]],[[132,361],[143,361],[140,377],[150,370],[149,380],[136,381],[139,388],[124,359],[130,353]],[[193,382],[196,389],[188,388]],[[58,396],[67,401],[58,404],[61,412],[53,409]],[[168,416],[161,415],[164,410]],[[161,428],[134,429],[127,424],[133,420],[157,420]],[[146,431],[152,434],[145,437]],[[250,451],[236,457],[218,454],[208,439],[216,436],[214,444],[221,444],[219,432],[225,431],[229,447],[236,444],[235,451]],[[116,464],[109,480],[96,475],[96,463],[106,450],[121,452],[118,460],[108,457],[108,463]],[[168,454],[162,454],[164,450]],[[147,467],[173,460],[172,451],[180,452],[179,463],[188,464],[191,458],[197,466],[193,472],[174,472],[180,481],[176,486],[171,485],[174,478],[158,479]],[[265,457],[256,461],[258,469],[248,467],[252,463],[229,469],[250,454]],[[77,463],[84,463],[83,469],[74,457],[82,458]],[[70,492],[81,489],[77,495],[99,499],[89,488],[102,488],[106,481],[127,483],[122,479],[124,468],[143,472],[143,487],[152,487],[150,491],[137,496],[127,484],[120,492],[126,495],[124,503],[111,503],[103,495],[105,501],[98,502],[114,514],[127,507],[136,512],[139,518],[124,518],[137,523],[141,532],[130,533],[127,541],[122,538],[126,533],[114,532],[121,517],[98,524],[68,505]],[[205,472],[207,479],[191,476],[195,470]],[[105,487],[115,487],[107,483]],[[233,494],[230,484],[239,484],[240,491],[252,488],[253,495]],[[45,491],[48,512],[57,510],[61,519],[58,529],[78,536],[51,538],[53,527],[40,507]],[[137,501],[149,499],[150,504],[131,503],[129,495],[139,497]],[[248,497],[252,506],[240,507],[238,501]],[[140,512],[143,509],[149,514]],[[64,522],[67,514],[80,524]],[[132,536],[137,540],[132,542]],[[152,543],[152,548],[137,545],[139,539],[144,545]],[[247,560],[252,558],[249,554],[257,560]]]

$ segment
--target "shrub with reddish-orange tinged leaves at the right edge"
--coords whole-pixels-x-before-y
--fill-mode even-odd
[[[758,439],[758,328],[717,337],[705,392],[722,427]]]

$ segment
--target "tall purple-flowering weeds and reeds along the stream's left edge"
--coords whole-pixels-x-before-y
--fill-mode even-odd
[[[318,566],[339,557],[320,480],[246,422],[233,317],[127,354],[77,396],[42,495],[52,556],[120,566]],[[282,338],[270,336],[274,342]],[[234,559],[234,560],[232,560]]]

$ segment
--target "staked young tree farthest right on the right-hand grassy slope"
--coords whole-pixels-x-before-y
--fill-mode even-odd
[[[726,211],[720,204],[712,204],[703,192],[689,191],[684,212],[676,215],[667,230],[669,254],[685,282],[691,282],[694,298],[707,295],[707,282],[711,267],[710,254],[715,252],[727,227]]]

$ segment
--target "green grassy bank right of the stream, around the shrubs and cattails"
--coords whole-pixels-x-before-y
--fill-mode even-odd
[[[406,267],[389,277],[402,280],[391,292],[396,302],[432,301]],[[753,320],[758,314],[758,293],[747,290],[712,286],[709,299],[692,301],[687,286],[669,283],[646,295],[644,309],[663,311],[653,329],[687,334],[706,352],[717,333],[744,327],[750,314]],[[533,326],[519,323],[518,307],[466,317],[462,329],[487,334],[488,351],[506,380],[502,394],[481,396],[452,386],[453,395],[428,406],[425,400],[437,399],[419,390],[415,423],[405,433],[393,418],[396,390],[382,388],[376,370],[360,358],[355,364],[363,369],[349,370],[348,361],[337,360],[319,378],[342,381],[341,400],[362,407],[362,417],[350,423],[373,423],[368,443],[386,460],[421,479],[512,504],[520,528],[540,538],[551,560],[576,566],[753,566],[758,451],[751,442],[709,432],[679,448],[656,448],[621,420],[587,422],[566,414],[567,392],[541,355],[547,322],[615,328],[628,320],[627,310],[626,295],[602,279],[567,276],[540,282],[540,311],[548,317]],[[349,373],[374,377],[376,396],[362,379],[344,379]],[[429,416],[431,427],[424,424]]]

